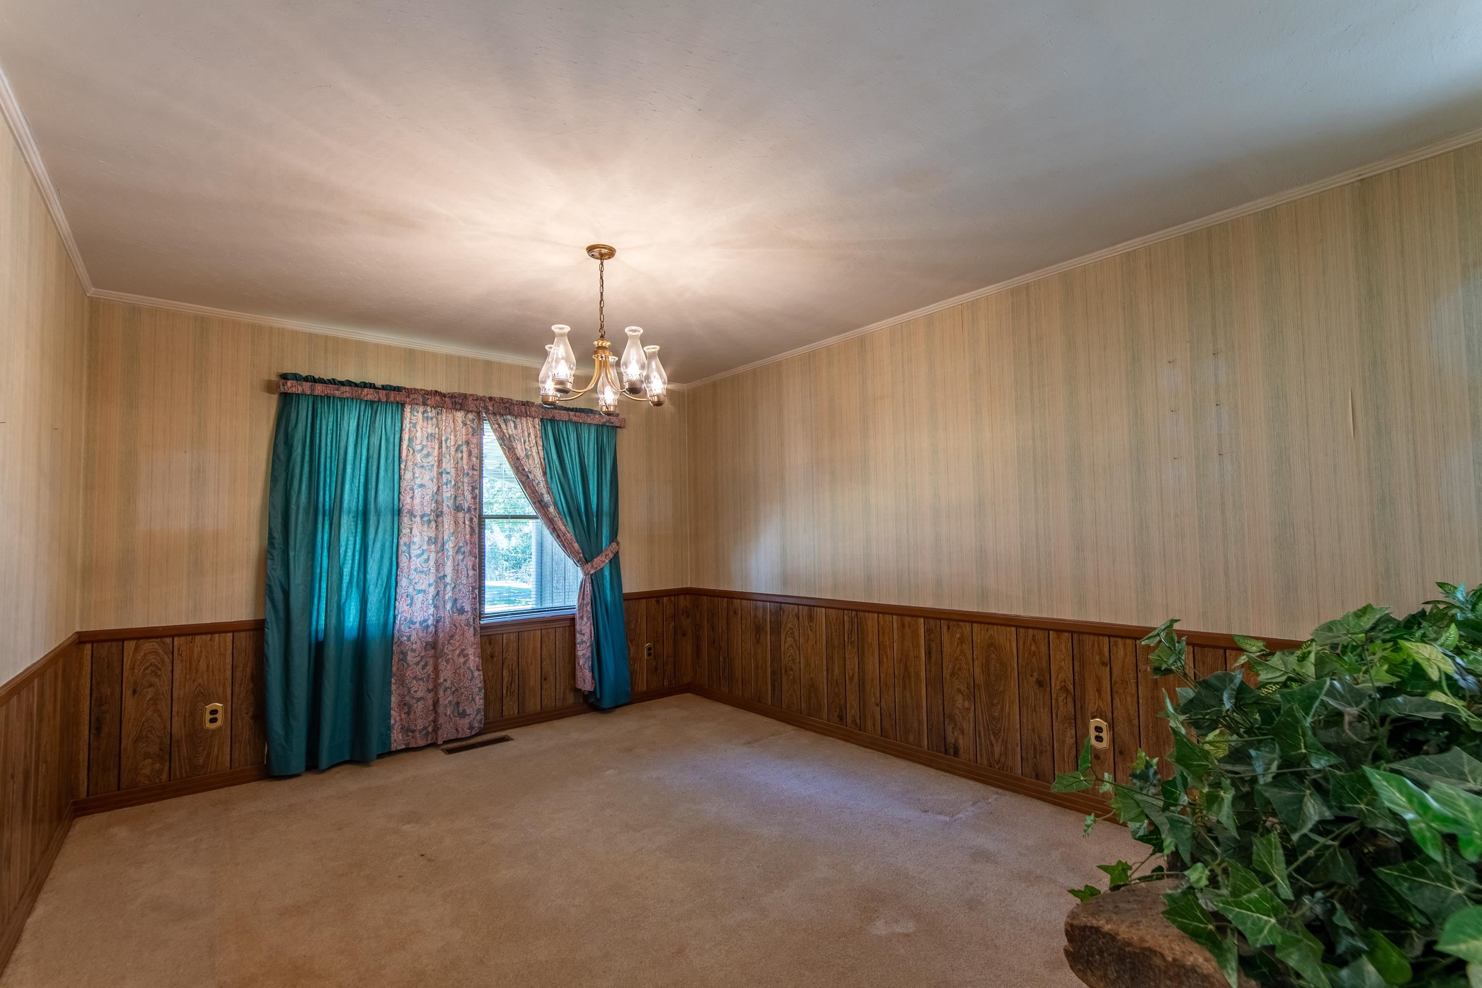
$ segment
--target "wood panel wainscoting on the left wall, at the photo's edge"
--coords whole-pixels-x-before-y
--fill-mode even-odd
[[[74,634],[0,686],[0,970],[87,791],[87,664]]]

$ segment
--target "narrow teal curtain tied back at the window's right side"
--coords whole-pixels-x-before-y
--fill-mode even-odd
[[[618,538],[618,430],[541,419],[545,481],[551,501],[585,558],[596,558]],[[622,554],[591,575],[593,656],[597,707],[619,707],[633,696],[628,632],[622,625]]]

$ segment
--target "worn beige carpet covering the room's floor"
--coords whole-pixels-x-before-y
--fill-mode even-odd
[[[77,821],[0,988],[1077,985],[1080,816],[697,696]]]

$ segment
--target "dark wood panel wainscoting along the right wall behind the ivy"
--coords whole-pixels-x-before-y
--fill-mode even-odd
[[[1112,727],[1097,775],[1126,778],[1138,748],[1172,747],[1157,717],[1177,677],[1154,678],[1150,628],[689,588],[694,692],[742,710],[1079,812],[1051,792],[1089,721]],[[1224,634],[1184,632],[1194,675],[1240,656]],[[1272,647],[1291,641],[1269,640]],[[1165,681],[1166,680],[1166,681]]]

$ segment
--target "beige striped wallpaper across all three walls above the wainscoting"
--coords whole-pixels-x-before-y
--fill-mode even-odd
[[[528,367],[119,302],[89,330],[9,142],[0,169],[0,674],[74,627],[261,613],[279,370],[531,397]],[[1414,606],[1482,576],[1482,148],[677,393],[619,467],[630,590],[1273,635]]]

